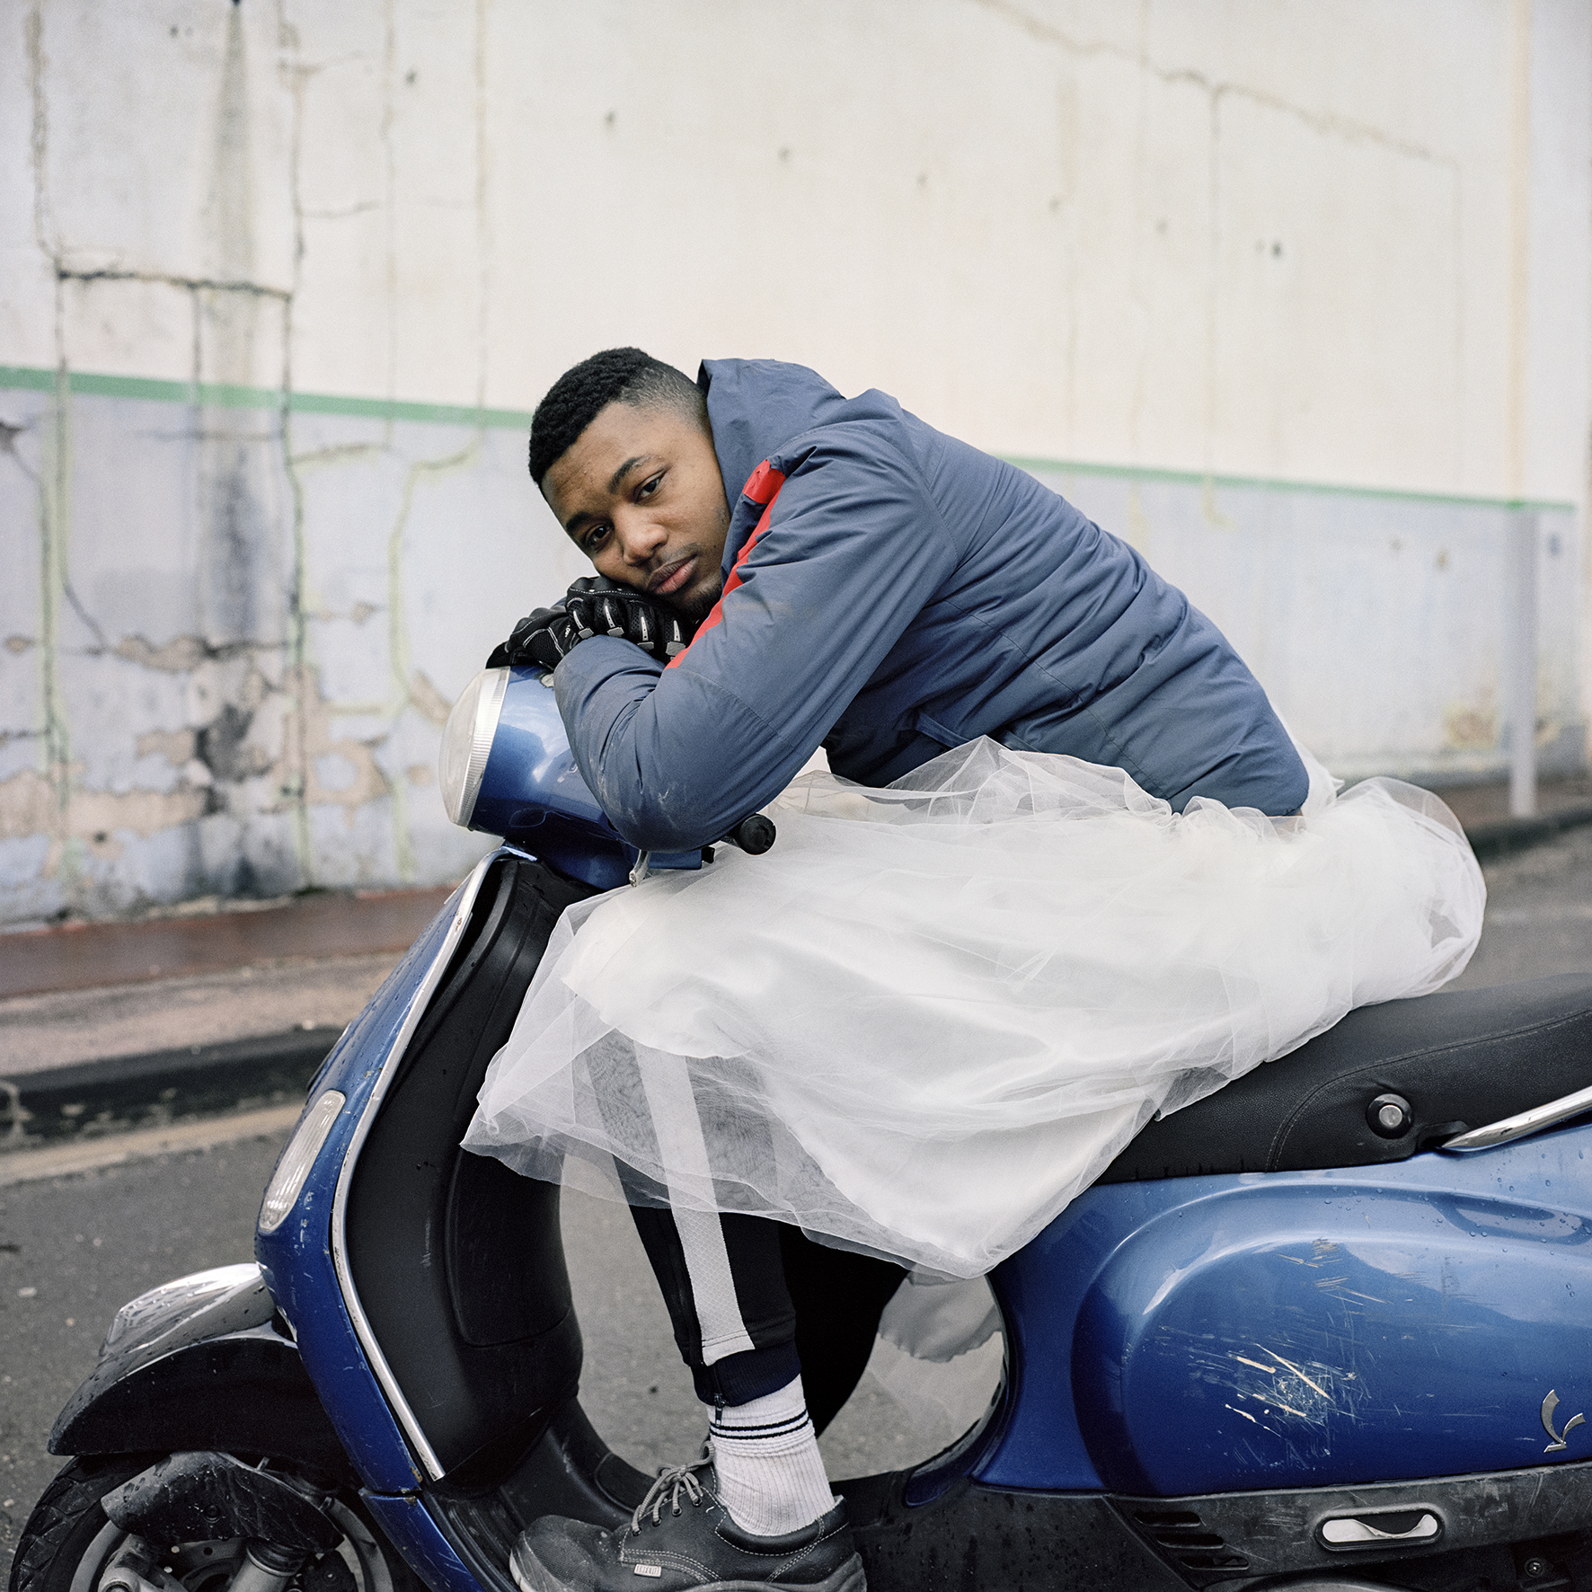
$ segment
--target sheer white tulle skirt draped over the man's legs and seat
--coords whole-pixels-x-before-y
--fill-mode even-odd
[[[465,1148],[987,1272],[1157,1111],[1469,960],[1449,809],[1310,769],[1280,820],[992,740],[802,775],[766,855],[564,914]]]

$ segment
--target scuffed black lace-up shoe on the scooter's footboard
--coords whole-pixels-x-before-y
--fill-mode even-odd
[[[661,1473],[618,1532],[544,1516],[514,1544],[514,1584],[521,1592],[866,1592],[844,1503],[799,1532],[751,1536],[718,1501],[715,1481],[708,1458]]]

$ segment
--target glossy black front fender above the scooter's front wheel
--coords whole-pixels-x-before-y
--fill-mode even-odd
[[[99,1364],[49,1433],[51,1453],[194,1449],[353,1476],[253,1262],[181,1277],[124,1304]]]

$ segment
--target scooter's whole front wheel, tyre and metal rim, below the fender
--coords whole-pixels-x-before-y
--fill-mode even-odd
[[[67,1465],[27,1517],[11,1562],[11,1592],[99,1592],[107,1565],[127,1543],[100,1500],[158,1458],[124,1453]],[[419,1582],[363,1511],[333,1498],[326,1512],[342,1527],[342,1541],[315,1554],[285,1592],[417,1592]],[[145,1546],[180,1592],[228,1592],[244,1567],[242,1538]]]

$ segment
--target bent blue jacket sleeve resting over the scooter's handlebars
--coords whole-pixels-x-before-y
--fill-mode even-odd
[[[917,465],[877,433],[804,451],[718,622],[673,664],[610,637],[559,664],[575,761],[615,828],[643,850],[691,850],[766,806],[955,557]]]

